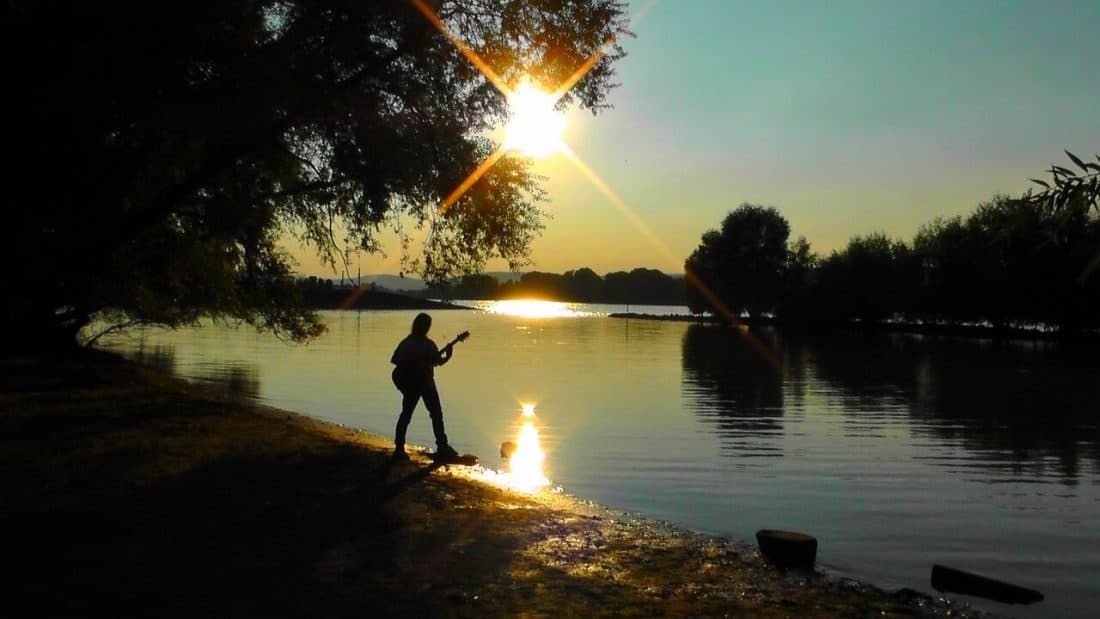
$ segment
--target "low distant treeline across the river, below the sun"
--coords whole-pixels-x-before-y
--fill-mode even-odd
[[[468,275],[451,285],[437,285],[429,294],[443,299],[535,298],[590,303],[684,305],[683,278],[651,268],[619,270],[601,277],[591,268],[565,273],[525,273],[518,280],[501,283],[490,275]]]

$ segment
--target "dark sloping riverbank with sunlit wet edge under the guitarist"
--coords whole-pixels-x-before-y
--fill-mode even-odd
[[[0,615],[927,616],[741,543],[392,467],[361,431],[112,355],[2,363]],[[965,615],[965,612],[964,612]]]

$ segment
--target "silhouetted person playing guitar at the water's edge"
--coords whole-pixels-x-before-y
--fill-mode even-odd
[[[407,461],[405,452],[405,433],[408,431],[413,410],[420,398],[428,408],[431,418],[431,430],[436,434],[436,462],[451,462],[459,453],[447,442],[443,429],[443,407],[439,402],[439,391],[436,389],[436,366],[443,365],[454,356],[453,344],[443,346],[440,351],[436,342],[428,338],[431,329],[431,317],[420,312],[413,319],[411,332],[397,344],[389,362],[394,367],[394,385],[402,393],[402,413],[397,418],[397,430],[394,435],[394,455],[396,461]]]

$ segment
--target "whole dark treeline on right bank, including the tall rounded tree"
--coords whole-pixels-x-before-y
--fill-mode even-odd
[[[993,328],[1100,327],[1100,217],[996,197],[912,242],[875,233],[820,257],[774,209],[743,205],[685,263],[693,312],[799,324],[903,320]],[[719,309],[718,303],[725,306]]]

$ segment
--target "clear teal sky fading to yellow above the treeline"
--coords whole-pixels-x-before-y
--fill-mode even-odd
[[[1096,0],[638,0],[614,109],[570,110],[540,161],[551,213],[531,270],[682,272],[743,202],[820,254],[911,241],[936,217],[1020,194],[1063,150],[1100,153]],[[352,274],[397,273],[361,256]],[[327,274],[308,251],[299,270]],[[505,270],[492,263],[487,270]]]

